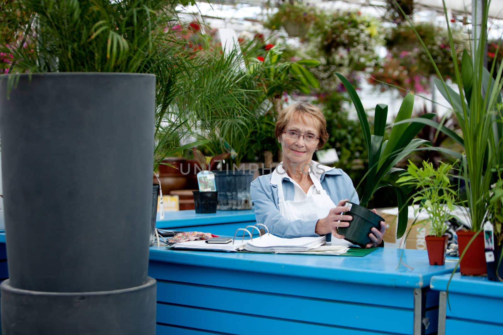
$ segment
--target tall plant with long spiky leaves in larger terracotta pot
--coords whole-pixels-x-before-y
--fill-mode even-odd
[[[495,68],[495,62],[493,62],[489,71],[484,67],[484,46],[487,41],[487,1],[482,0],[482,5],[484,10],[481,13],[481,21],[478,22],[477,13],[473,16],[475,26],[480,29],[474,31],[476,43],[472,47],[471,56],[466,50],[463,51],[462,71],[457,62],[458,55],[455,51],[454,37],[450,25],[447,26],[451,59],[454,60],[453,80],[457,84],[457,91],[446,84],[431,53],[409,21],[438,76],[435,79],[435,84],[452,106],[462,132],[462,137],[460,137],[433,121],[417,121],[445,132],[464,148],[461,171],[465,182],[466,206],[471,230],[458,231],[457,235],[461,272],[470,275],[483,275],[486,272],[481,232],[489,204],[489,186],[493,181],[491,168],[503,162],[503,153],[499,150],[503,132],[499,122],[500,110],[497,107],[501,103],[503,65],[500,64],[498,68]],[[445,4],[444,10],[446,21],[449,22]],[[493,79],[494,73],[496,73],[496,80]],[[469,254],[474,256],[473,263],[463,262],[467,250]]]

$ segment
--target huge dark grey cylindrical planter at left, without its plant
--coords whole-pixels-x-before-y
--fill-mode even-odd
[[[9,99],[6,87],[7,80],[0,82],[9,303],[16,306],[12,302],[19,293],[16,289],[24,290],[20,299],[26,291],[44,292],[45,299],[51,292],[120,294],[117,290],[144,286],[155,76],[53,73],[30,79],[22,75]],[[2,287],[2,296],[5,290]],[[151,295],[151,290],[142,289],[134,296],[141,292],[143,298]],[[54,303],[70,300],[65,295]],[[87,307],[105,308],[100,299],[95,301],[99,305]],[[125,301],[135,310],[137,301]],[[2,299],[2,316],[10,308],[6,302]],[[147,304],[155,310],[155,298]],[[106,308],[103,312],[110,312]],[[50,306],[39,312],[41,318],[54,317]],[[9,312],[9,324],[2,324],[4,334],[18,333],[11,331],[16,313],[21,319],[23,309]],[[155,326],[155,313],[142,317],[150,319],[134,322]],[[110,329],[110,324],[103,324],[103,329]],[[57,333],[88,333],[78,324],[70,330]]]

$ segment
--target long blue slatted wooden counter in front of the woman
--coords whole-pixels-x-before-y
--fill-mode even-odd
[[[365,257],[330,257],[152,247],[157,333],[412,334],[414,316],[422,321],[414,315],[417,301],[429,317],[426,333],[437,331],[438,294],[428,286],[454,262],[430,266],[426,251],[418,250],[404,253],[413,269],[398,267],[399,259],[399,250],[383,248]]]

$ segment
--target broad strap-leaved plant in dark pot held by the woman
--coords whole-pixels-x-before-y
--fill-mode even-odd
[[[394,166],[419,146],[430,144],[426,140],[414,139],[417,133],[424,127],[423,124],[409,122],[408,124],[402,123],[396,125],[396,122],[410,118],[414,105],[414,95],[409,93],[404,97],[396,116],[395,125],[391,129],[389,139],[384,140],[388,106],[385,104],[376,105],[374,134],[371,134],[367,114],[356,90],[342,74],[336,73],[336,75],[343,82],[356,107],[369,157],[368,172],[357,187],[358,194],[361,197],[360,205],[350,203],[351,209],[346,214],[352,215],[353,220],[350,222],[349,227],[339,228],[338,233],[344,235],[348,241],[360,246],[369,243],[370,238],[368,235],[370,229],[372,227],[379,229],[379,222],[383,221],[383,218],[366,207],[376,190],[382,187],[392,187],[396,191],[399,207],[396,236],[400,238],[407,227],[408,207],[405,205],[407,201],[405,191],[395,183],[397,178],[395,173],[404,171],[404,169]],[[431,113],[423,115],[421,118],[430,120],[434,116],[435,114]],[[364,181],[365,183],[362,185]]]

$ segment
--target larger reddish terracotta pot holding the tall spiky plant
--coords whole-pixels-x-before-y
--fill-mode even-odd
[[[458,231],[459,256],[463,254],[474,232]],[[484,254],[484,234],[479,233],[470,244],[465,256],[461,259],[460,271],[462,275],[481,276],[487,273]]]

